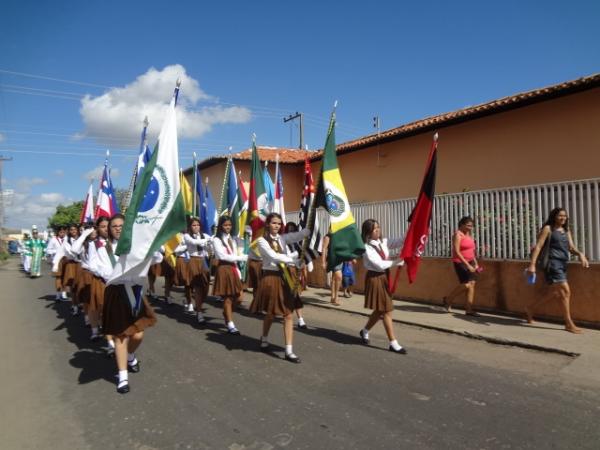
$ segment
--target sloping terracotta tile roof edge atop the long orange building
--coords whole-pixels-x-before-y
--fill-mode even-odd
[[[380,132],[379,134],[371,134],[369,136],[364,136],[359,139],[339,144],[337,146],[337,152],[346,153],[359,150],[361,148],[370,147],[377,143],[395,141],[403,137],[412,136],[430,130],[438,130],[443,127],[465,122],[467,120],[473,120],[491,114],[496,114],[515,108],[521,108],[533,103],[538,103],[597,87],[600,87],[600,73],[578,78],[576,80],[565,81],[564,83],[555,84],[541,89],[534,89],[532,91],[503,97],[491,102],[459,109],[457,111],[427,117],[425,119],[417,120],[416,122],[407,123],[400,127]],[[322,150],[320,150],[318,153],[313,153],[312,159],[320,159],[321,155]]]

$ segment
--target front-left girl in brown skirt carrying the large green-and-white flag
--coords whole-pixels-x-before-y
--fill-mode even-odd
[[[124,216],[115,214],[109,222],[109,240],[97,249],[96,267],[105,280],[109,279],[117,264],[115,250],[121,237]],[[104,291],[102,320],[104,333],[115,343],[115,359],[118,369],[117,392],[129,392],[128,370],[140,371],[135,351],[142,343],[144,330],[156,323],[156,315],[143,295],[143,283],[147,274],[131,276],[119,284],[109,284]]]

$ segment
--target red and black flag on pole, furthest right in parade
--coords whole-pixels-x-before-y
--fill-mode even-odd
[[[404,246],[400,252],[400,258],[406,263],[408,282],[412,283],[417,278],[417,270],[421,262],[421,256],[425,253],[425,245],[429,237],[431,226],[431,210],[433,207],[433,196],[435,195],[435,169],[437,164],[437,142],[438,134],[433,136],[433,143],[429,151],[427,168],[421,184],[421,191],[417,197],[417,204],[410,213],[408,231],[404,237]]]

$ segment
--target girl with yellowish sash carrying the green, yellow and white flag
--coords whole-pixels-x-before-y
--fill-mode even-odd
[[[280,235],[281,215],[271,213],[265,221],[265,235],[257,239],[257,246],[263,258],[262,277],[256,299],[250,305],[254,313],[265,312],[260,349],[269,349],[269,331],[275,316],[283,316],[283,336],[285,340],[285,359],[299,363],[294,354],[292,343],[294,335],[293,313],[301,305],[296,292],[296,280],[290,265],[296,265],[298,253],[288,252],[288,245],[299,242],[310,234],[304,229],[297,233]]]

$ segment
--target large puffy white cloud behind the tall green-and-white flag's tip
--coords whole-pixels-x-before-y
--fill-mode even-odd
[[[118,142],[115,139],[134,143],[139,139],[144,117],[148,116],[149,140],[156,140],[177,78],[181,79],[177,103],[180,138],[198,138],[215,125],[250,120],[251,112],[244,107],[199,107],[199,102],[212,97],[186,73],[185,67],[174,64],[162,70],[152,67],[125,87],[110,89],[98,97],[86,95],[79,110],[85,131],[74,139],[83,134],[109,146]]]

